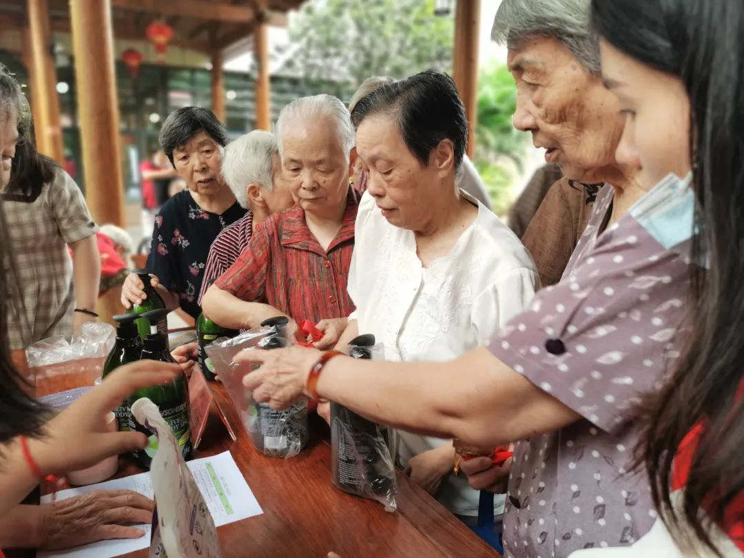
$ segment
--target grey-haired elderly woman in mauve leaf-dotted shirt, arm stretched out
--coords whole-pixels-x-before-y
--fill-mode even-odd
[[[303,347],[238,357],[263,362],[246,386],[275,408],[307,394],[484,452],[517,441],[504,517],[513,557],[630,545],[650,529],[649,485],[631,472],[630,410],[679,358],[693,269],[693,204],[676,196],[684,186],[655,185],[644,170],[630,179],[634,164],[615,161],[623,115],[597,73],[588,21],[588,0],[504,0],[494,25],[519,88],[516,119],[568,177],[607,182],[560,283],[450,362],[362,362]],[[674,219],[690,226],[666,226]],[[497,480],[492,467],[464,464],[482,469],[478,488]]]

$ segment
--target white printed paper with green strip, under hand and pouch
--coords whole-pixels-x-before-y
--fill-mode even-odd
[[[263,513],[230,452],[223,452],[211,458],[187,461],[186,464],[191,470],[199,490],[202,491],[202,496],[204,496],[209,511],[214,517],[214,525],[217,525],[217,527]],[[153,497],[150,472],[143,472],[139,475],[91,484],[88,487],[62,490],[57,493],[57,500],[79,496],[92,492],[92,490],[134,490],[144,494],[147,498]],[[51,502],[51,495],[42,496],[42,504],[48,502]],[[150,525],[143,524],[137,525],[137,527],[145,532],[144,536],[139,539],[92,542],[89,545],[68,548],[64,551],[39,551],[36,553],[36,557],[113,558],[127,552],[150,548]]]

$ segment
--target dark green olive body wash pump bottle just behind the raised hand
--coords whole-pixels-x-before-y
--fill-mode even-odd
[[[142,315],[152,325],[150,326],[150,334],[144,340],[141,360],[176,362],[170,356],[167,335],[160,333],[156,325],[165,318],[167,313],[167,309],[161,309],[145,312]],[[132,408],[132,403],[141,397],[147,397],[155,405],[158,405],[160,414],[165,419],[165,422],[168,423],[170,429],[173,430],[173,433],[176,434],[176,440],[178,440],[179,447],[181,448],[181,454],[184,459],[189,459],[191,457],[192,446],[188,379],[186,378],[186,374],[181,371],[170,383],[138,389],[129,397],[129,408]],[[129,420],[129,429],[142,432],[148,436],[147,447],[135,451],[134,455],[141,466],[149,469],[150,462],[153,461],[155,452],[158,451],[158,438],[150,435],[150,432],[132,417]]]

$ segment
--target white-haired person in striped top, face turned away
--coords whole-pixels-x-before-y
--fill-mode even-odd
[[[225,148],[222,176],[247,213],[217,235],[209,249],[199,303],[209,286],[225,273],[248,247],[256,226],[269,215],[294,203],[282,178],[279,146],[274,134],[254,130]]]

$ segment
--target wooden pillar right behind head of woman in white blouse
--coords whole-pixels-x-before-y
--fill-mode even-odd
[[[478,125],[478,36],[481,29],[481,0],[458,0],[455,14],[455,83],[468,120],[467,154],[475,156],[475,126]]]

